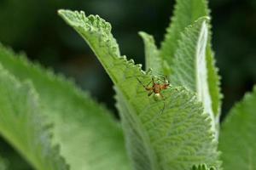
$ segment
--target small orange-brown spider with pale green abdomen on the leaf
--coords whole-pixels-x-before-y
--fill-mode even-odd
[[[161,113],[165,110],[166,103],[165,103],[165,97],[160,92],[162,90],[165,90],[171,86],[170,82],[167,80],[166,77],[163,77],[163,81],[160,79],[154,80],[154,77],[152,77],[152,80],[148,83],[147,86],[143,84],[138,78],[137,81],[140,82],[143,85],[143,88],[148,91],[148,97],[151,96],[151,94],[154,94],[154,100],[158,101],[163,99],[164,100],[164,107],[161,111]],[[149,86],[152,83],[152,86]]]

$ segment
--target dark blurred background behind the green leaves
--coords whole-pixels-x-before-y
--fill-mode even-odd
[[[15,52],[25,52],[30,59],[55,72],[73,77],[81,88],[116,114],[112,82],[82,38],[57,15],[57,9],[99,14],[112,24],[121,53],[143,63],[143,41],[137,31],[152,34],[159,45],[174,3],[173,0],[0,0],[0,42]],[[256,1],[212,0],[209,6],[225,114],[256,82]],[[29,169],[12,150],[0,140],[0,152],[15,156],[19,169]]]

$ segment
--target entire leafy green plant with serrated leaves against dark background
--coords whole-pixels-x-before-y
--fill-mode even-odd
[[[98,15],[63,9],[59,14],[108,72],[121,124],[73,82],[0,45],[0,133],[32,167],[222,169],[217,149],[221,94],[206,0],[177,1],[160,49],[154,37],[139,33],[147,71],[120,54],[110,24]],[[172,86],[162,88],[166,82],[160,75],[171,78]],[[153,85],[161,91],[149,89]],[[224,122],[219,147],[226,169],[256,167],[255,93],[256,88]],[[157,95],[162,96],[156,100]],[[7,161],[0,157],[0,167]]]

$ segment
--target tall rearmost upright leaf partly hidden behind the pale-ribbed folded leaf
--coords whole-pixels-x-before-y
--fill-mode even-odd
[[[173,60],[177,54],[178,41],[182,38],[181,32],[185,31],[185,28],[192,25],[195,20],[203,16],[210,17],[209,13],[207,0],[177,0],[174,16],[172,17],[170,26],[166,30],[165,40],[161,43],[160,48],[160,58],[165,59],[171,65],[171,70],[165,69],[166,75],[170,76],[173,73],[172,65],[174,65]],[[211,27],[208,27],[210,30]],[[222,94],[220,93],[218,70],[215,66],[214,54],[212,52],[211,36],[211,31],[209,31],[206,53],[207,86],[212,100],[212,112],[216,119],[216,125],[218,126]]]

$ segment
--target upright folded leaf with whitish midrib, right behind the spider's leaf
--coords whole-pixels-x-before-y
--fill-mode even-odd
[[[172,83],[197,94],[205,112],[212,119],[212,131],[218,132],[212,111],[212,99],[207,82],[207,18],[201,18],[182,33],[172,63]]]

